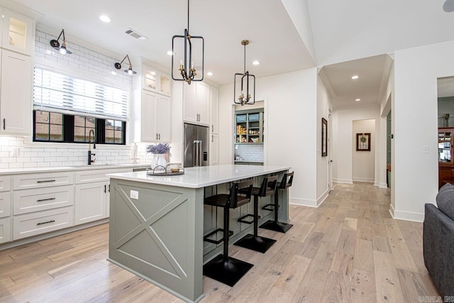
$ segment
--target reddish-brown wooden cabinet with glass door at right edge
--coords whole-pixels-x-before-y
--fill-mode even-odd
[[[438,128],[438,187],[454,184],[454,128]]]

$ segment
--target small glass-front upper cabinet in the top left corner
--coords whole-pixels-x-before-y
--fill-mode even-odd
[[[8,9],[3,10],[2,48],[33,55],[35,21]]]

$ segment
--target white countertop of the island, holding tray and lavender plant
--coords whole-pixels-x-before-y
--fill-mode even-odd
[[[287,166],[211,165],[187,167],[184,169],[184,175],[177,176],[149,176],[147,172],[121,172],[107,176],[119,180],[200,188],[289,169]]]

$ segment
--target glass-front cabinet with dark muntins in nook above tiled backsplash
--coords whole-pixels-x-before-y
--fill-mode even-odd
[[[263,109],[249,109],[236,111],[236,144],[260,144],[263,143]]]

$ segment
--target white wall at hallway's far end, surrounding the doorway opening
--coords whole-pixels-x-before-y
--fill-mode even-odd
[[[374,119],[375,138],[372,146],[380,144],[380,106],[378,104],[358,104],[343,107],[333,112],[333,182],[353,183],[353,121]],[[378,180],[379,161],[375,160],[374,180]],[[386,170],[386,165],[382,167]]]

